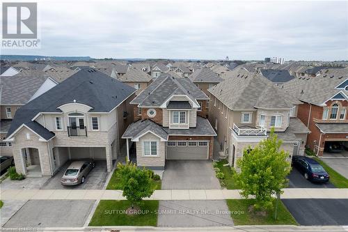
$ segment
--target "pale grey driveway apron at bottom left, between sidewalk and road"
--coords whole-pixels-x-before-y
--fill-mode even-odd
[[[31,200],[3,227],[84,226],[94,203],[93,200]]]

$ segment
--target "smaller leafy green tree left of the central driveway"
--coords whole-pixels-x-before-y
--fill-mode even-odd
[[[122,196],[134,204],[141,203],[143,197],[150,197],[154,192],[151,185],[152,172],[148,169],[139,169],[136,164],[117,164],[116,175],[120,179],[120,187],[123,190]]]

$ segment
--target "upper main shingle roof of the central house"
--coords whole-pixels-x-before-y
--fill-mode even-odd
[[[187,95],[193,101],[208,99],[207,95],[189,79],[175,78],[168,73],[162,73],[148,88],[136,96],[131,104],[139,104],[141,107],[159,107],[173,95]]]

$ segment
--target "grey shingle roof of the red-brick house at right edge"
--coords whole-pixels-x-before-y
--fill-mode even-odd
[[[342,89],[336,88],[348,79],[345,68],[330,68],[317,77],[296,77],[281,88],[303,102],[323,105]]]

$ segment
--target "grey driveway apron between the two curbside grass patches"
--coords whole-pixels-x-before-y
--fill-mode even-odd
[[[157,226],[233,226],[224,200],[159,201]]]

